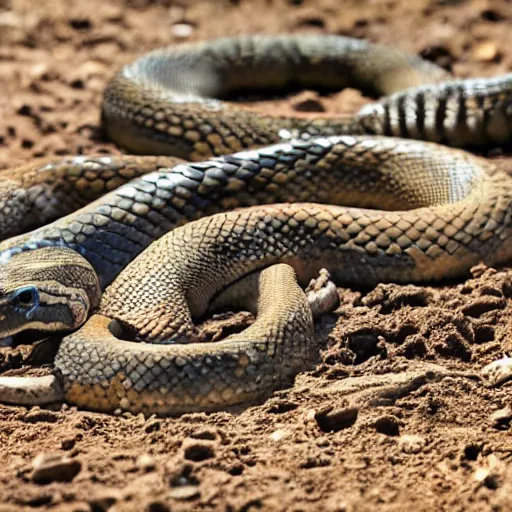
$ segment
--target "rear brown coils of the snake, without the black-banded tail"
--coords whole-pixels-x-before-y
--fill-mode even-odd
[[[267,93],[290,87],[355,87],[382,96],[447,77],[418,57],[347,37],[219,39],[158,50],[126,66],[105,91],[102,121],[110,138],[125,149],[197,161],[291,137],[362,131],[352,120],[276,118],[214,99],[249,86]],[[0,240],[175,164],[176,159],[152,156],[79,156],[4,170]]]

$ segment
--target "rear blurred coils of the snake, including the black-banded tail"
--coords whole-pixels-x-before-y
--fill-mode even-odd
[[[241,36],[156,50],[125,66],[105,91],[102,119],[110,138],[126,149],[188,160],[344,133],[457,147],[505,144],[512,132],[511,77],[435,84],[448,80],[448,73],[358,39]],[[219,99],[248,89],[268,93],[300,87],[353,87],[385,98],[354,119],[316,120],[264,116]],[[0,240],[66,215],[130,178],[171,165],[164,159],[121,155],[70,157],[3,171]]]

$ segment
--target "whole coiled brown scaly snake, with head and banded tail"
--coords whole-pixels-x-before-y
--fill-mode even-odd
[[[134,153],[199,162],[78,157],[4,171],[2,211],[27,225],[34,211],[46,209],[42,222],[68,215],[1,243],[0,333],[82,326],[45,381],[53,397],[103,411],[215,410],[260,399],[314,361],[296,277],[304,284],[327,268],[336,282],[415,282],[507,261],[510,178],[461,150],[398,138],[510,141],[512,77],[448,78],[341,36],[244,36],[141,57],[107,87],[107,134]],[[353,119],[314,121],[222,101],[304,87],[385,97]],[[75,213],[85,200],[47,208],[56,190],[90,200],[136,176]],[[227,211],[239,207],[249,208]],[[212,304],[252,310],[256,322],[219,343],[190,343]],[[27,382],[0,379],[0,399],[41,401]]]

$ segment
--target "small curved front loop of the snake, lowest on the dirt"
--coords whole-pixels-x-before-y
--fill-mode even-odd
[[[159,268],[165,275],[169,267]],[[236,287],[243,293],[235,307],[253,311],[256,322],[217,343],[122,341],[111,333],[119,336],[120,326],[100,310],[59,347],[55,367],[64,398],[105,412],[212,411],[262,399],[311,368],[318,355],[313,320],[293,269],[274,265]],[[178,294],[173,304],[184,299]]]

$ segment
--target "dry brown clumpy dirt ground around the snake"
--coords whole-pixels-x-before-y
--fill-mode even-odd
[[[492,76],[512,69],[511,19],[506,0],[0,0],[0,168],[119,152],[99,130],[102,90],[170,42],[331,32]],[[307,92],[257,108],[364,101]],[[0,511],[512,510],[512,383],[479,373],[512,352],[512,270],[339,293],[316,370],[261,405],[167,419],[0,406]],[[27,352],[0,349],[0,371]],[[41,454],[56,457],[46,481]]]

